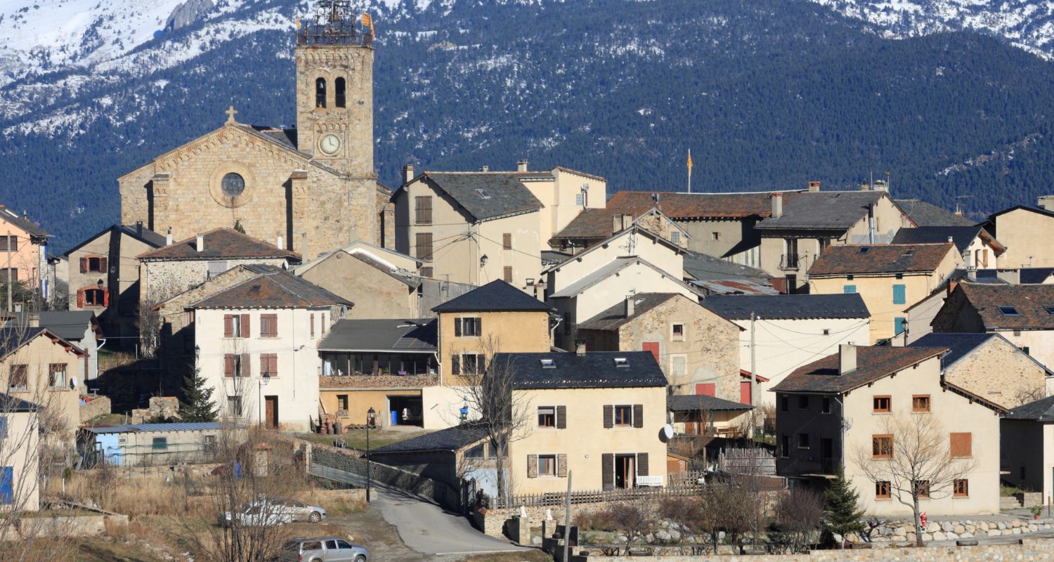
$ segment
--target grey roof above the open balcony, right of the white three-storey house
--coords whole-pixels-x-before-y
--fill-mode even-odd
[[[337,321],[318,344],[318,351],[433,353],[435,318]]]

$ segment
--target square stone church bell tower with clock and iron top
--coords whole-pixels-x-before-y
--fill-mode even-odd
[[[351,0],[315,0],[296,30],[296,144],[352,178],[373,169],[373,25]]]

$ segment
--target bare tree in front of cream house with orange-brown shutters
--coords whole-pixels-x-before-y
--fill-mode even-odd
[[[870,447],[857,447],[854,460],[876,487],[883,487],[892,498],[911,507],[915,543],[922,546],[919,499],[951,496],[956,481],[965,480],[975,463],[970,458],[955,456],[951,434],[934,415],[889,416],[883,430],[885,435],[873,438]]]

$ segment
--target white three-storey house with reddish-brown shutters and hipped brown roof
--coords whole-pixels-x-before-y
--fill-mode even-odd
[[[220,413],[306,430],[318,415],[318,343],[352,303],[284,270],[191,305],[201,374]]]

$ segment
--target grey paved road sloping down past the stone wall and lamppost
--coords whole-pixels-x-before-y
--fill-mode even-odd
[[[366,479],[343,470],[317,464],[313,474],[365,486]],[[371,508],[378,509],[389,524],[398,529],[407,546],[426,555],[501,553],[524,550],[505,541],[488,537],[469,524],[464,517],[444,511],[434,503],[398,488],[377,485],[372,488]]]

